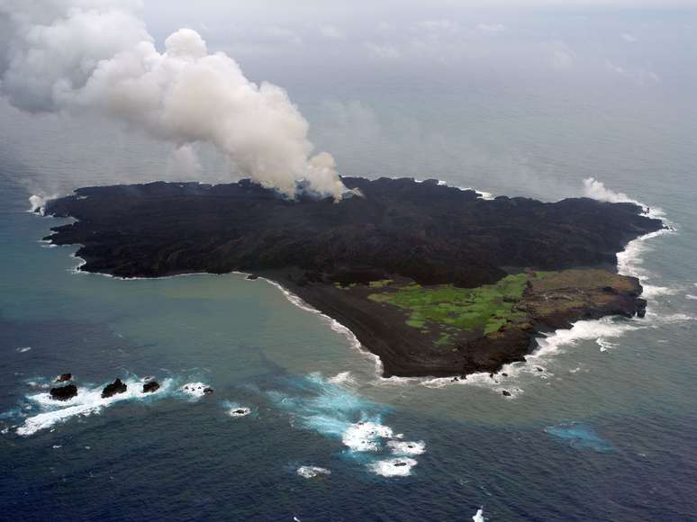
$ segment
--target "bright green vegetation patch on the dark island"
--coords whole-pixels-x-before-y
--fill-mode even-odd
[[[385,292],[371,293],[368,299],[385,302],[409,312],[406,324],[422,329],[437,323],[441,329],[484,329],[488,334],[500,329],[509,320],[522,320],[525,314],[515,309],[529,278],[542,278],[550,273],[507,275],[495,284],[476,288],[457,288],[452,284],[421,286],[409,284]],[[439,338],[439,345],[450,336]]]

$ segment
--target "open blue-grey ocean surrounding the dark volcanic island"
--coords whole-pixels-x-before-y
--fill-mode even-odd
[[[177,178],[167,147],[0,104],[0,518],[471,520],[483,508],[492,521],[697,520],[690,98],[465,96],[444,78],[433,100],[432,85],[305,92],[271,79],[347,174],[546,200],[582,195],[594,176],[662,209],[677,231],[622,257],[646,285],[646,319],[578,323],[499,383],[384,380],[350,335],[266,281],[76,274],[77,248],[39,241],[65,220],[28,213],[29,196]],[[209,156],[202,176],[224,179]],[[51,405],[64,372],[95,393]],[[146,375],[163,389],[99,399],[114,378],[135,390]],[[186,383],[215,392],[189,396]],[[231,417],[237,407],[249,415]]]

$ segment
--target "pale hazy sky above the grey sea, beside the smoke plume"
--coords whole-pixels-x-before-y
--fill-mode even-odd
[[[526,81],[579,74],[585,81],[593,76],[633,85],[694,81],[695,14],[695,0],[204,0],[195,7],[145,1],[145,18],[158,40],[190,26],[213,49],[262,70],[264,60],[418,74],[442,66]],[[316,69],[304,73],[321,75]]]

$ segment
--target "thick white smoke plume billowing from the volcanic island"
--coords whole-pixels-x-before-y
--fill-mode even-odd
[[[158,51],[135,0],[0,0],[2,92],[29,112],[98,112],[174,144],[212,144],[240,175],[294,196],[339,200],[327,153],[311,157],[308,123],[281,87],[250,82],[201,36],[180,29]],[[181,152],[184,150],[184,152]],[[194,160],[192,160],[194,161]],[[192,163],[195,165],[195,162]]]

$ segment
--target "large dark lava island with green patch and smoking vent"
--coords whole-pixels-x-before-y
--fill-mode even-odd
[[[412,178],[343,177],[354,197],[289,200],[249,180],[80,188],[55,245],[119,277],[249,273],[350,329],[386,377],[465,377],[524,360],[576,320],[643,317],[629,241],[664,228],[630,202],[486,200]]]

